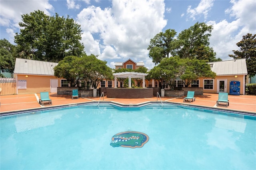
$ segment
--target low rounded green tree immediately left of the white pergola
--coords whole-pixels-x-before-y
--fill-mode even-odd
[[[93,54],[84,55],[78,61],[82,79],[89,81],[95,89],[103,79],[112,80],[114,78],[112,69],[106,63]]]

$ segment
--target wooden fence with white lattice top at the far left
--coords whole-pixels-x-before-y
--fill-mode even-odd
[[[16,79],[0,78],[0,95],[13,95],[17,93]]]

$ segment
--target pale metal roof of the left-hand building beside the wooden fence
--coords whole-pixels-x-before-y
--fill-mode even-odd
[[[14,74],[54,75],[58,63],[16,58]]]

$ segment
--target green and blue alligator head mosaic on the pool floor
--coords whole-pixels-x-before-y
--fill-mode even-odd
[[[148,135],[142,132],[121,132],[112,137],[110,145],[113,147],[141,148],[148,140]]]

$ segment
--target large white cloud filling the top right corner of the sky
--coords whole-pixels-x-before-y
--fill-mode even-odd
[[[253,0],[231,1],[233,6],[226,10],[227,14],[234,16],[236,20],[228,22],[222,20],[219,23],[210,21],[207,24],[213,25],[210,44],[214,48],[217,56],[222,60],[232,59],[229,54],[234,54],[232,50],[238,50],[236,45],[242,36],[247,33],[255,34],[256,30],[256,6]]]

